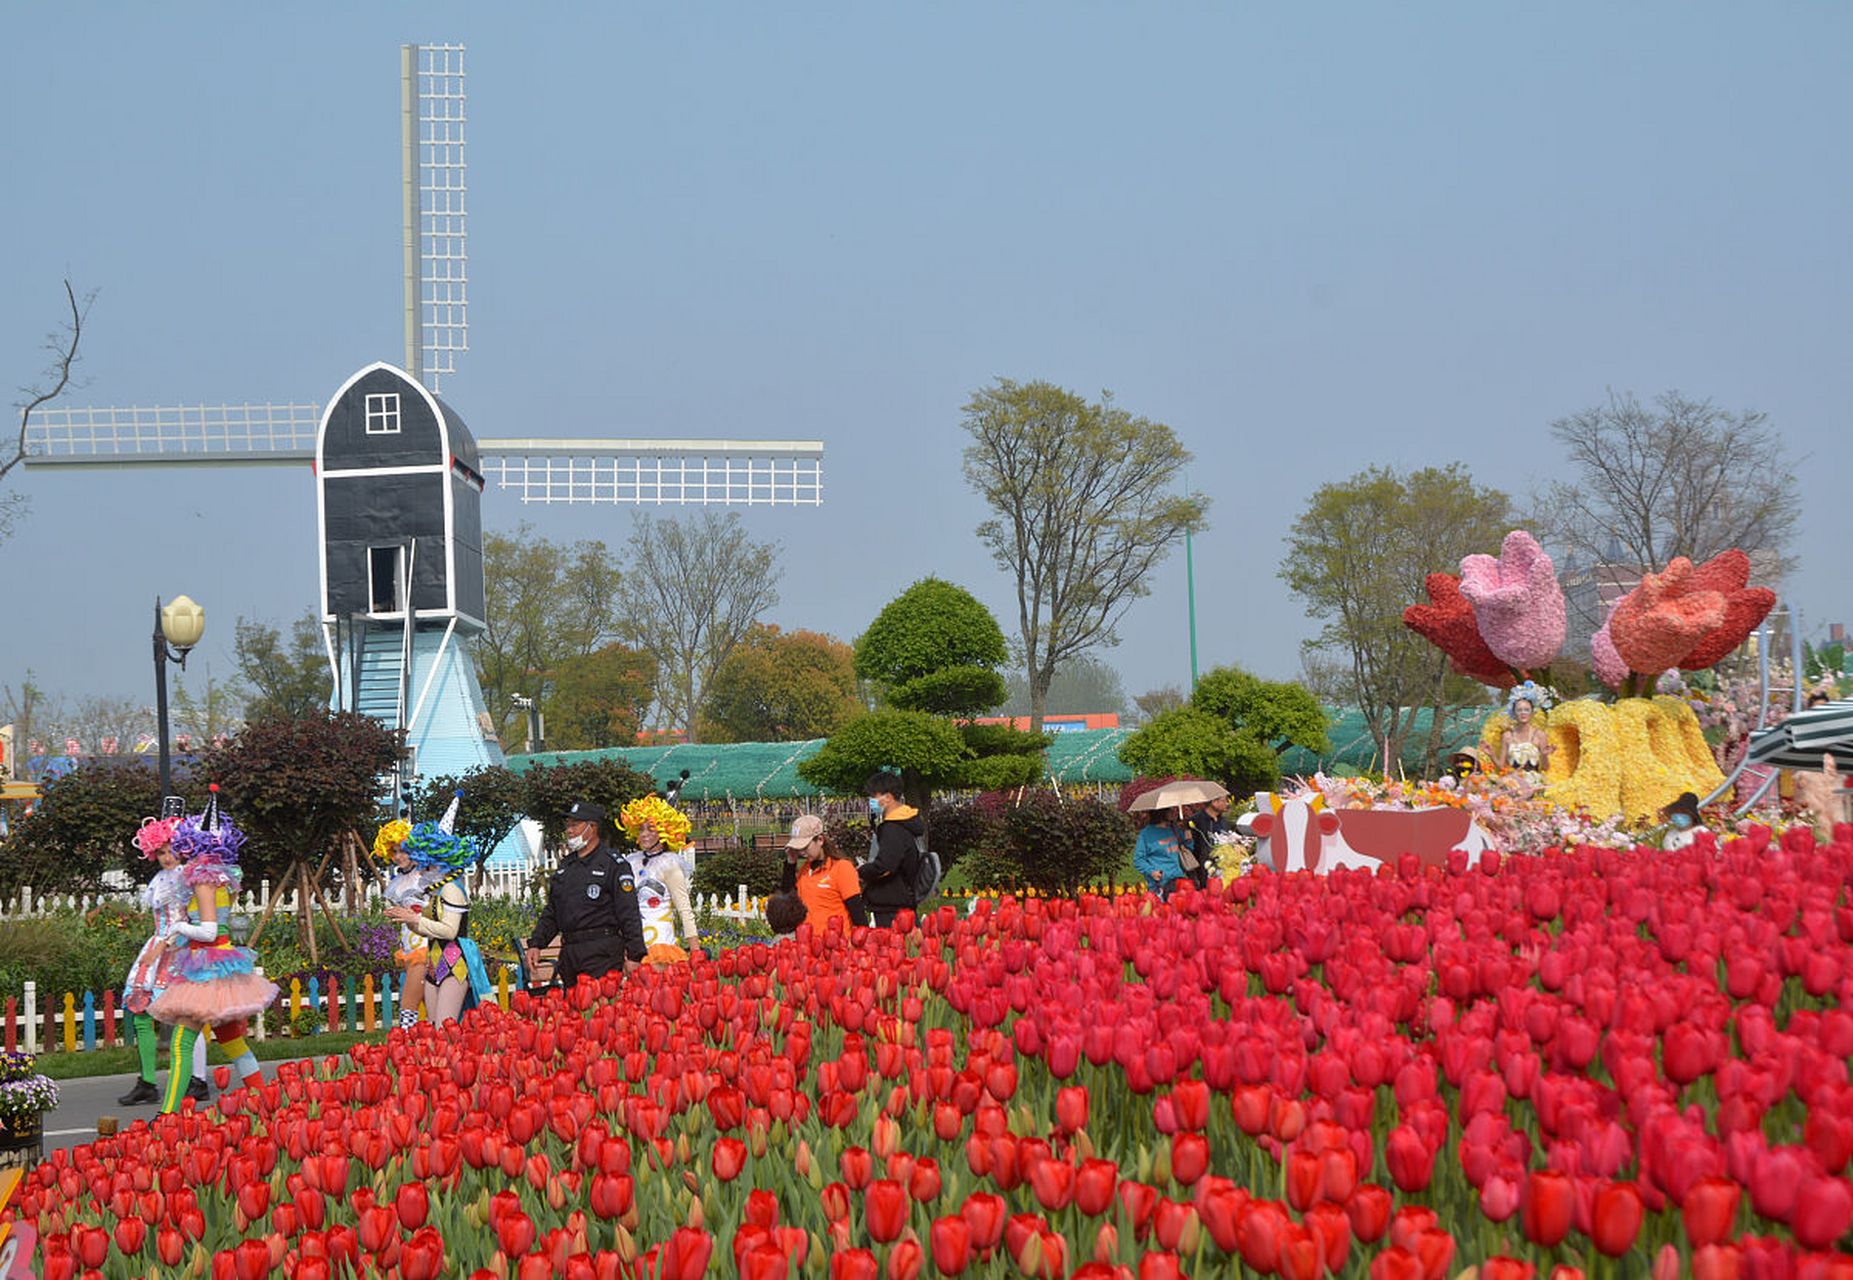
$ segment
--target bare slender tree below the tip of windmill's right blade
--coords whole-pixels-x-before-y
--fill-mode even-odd
[[[708,680],[778,604],[778,545],[756,543],[728,511],[652,521],[630,532],[619,582],[626,643],[656,659],[656,700],[695,741]]]

